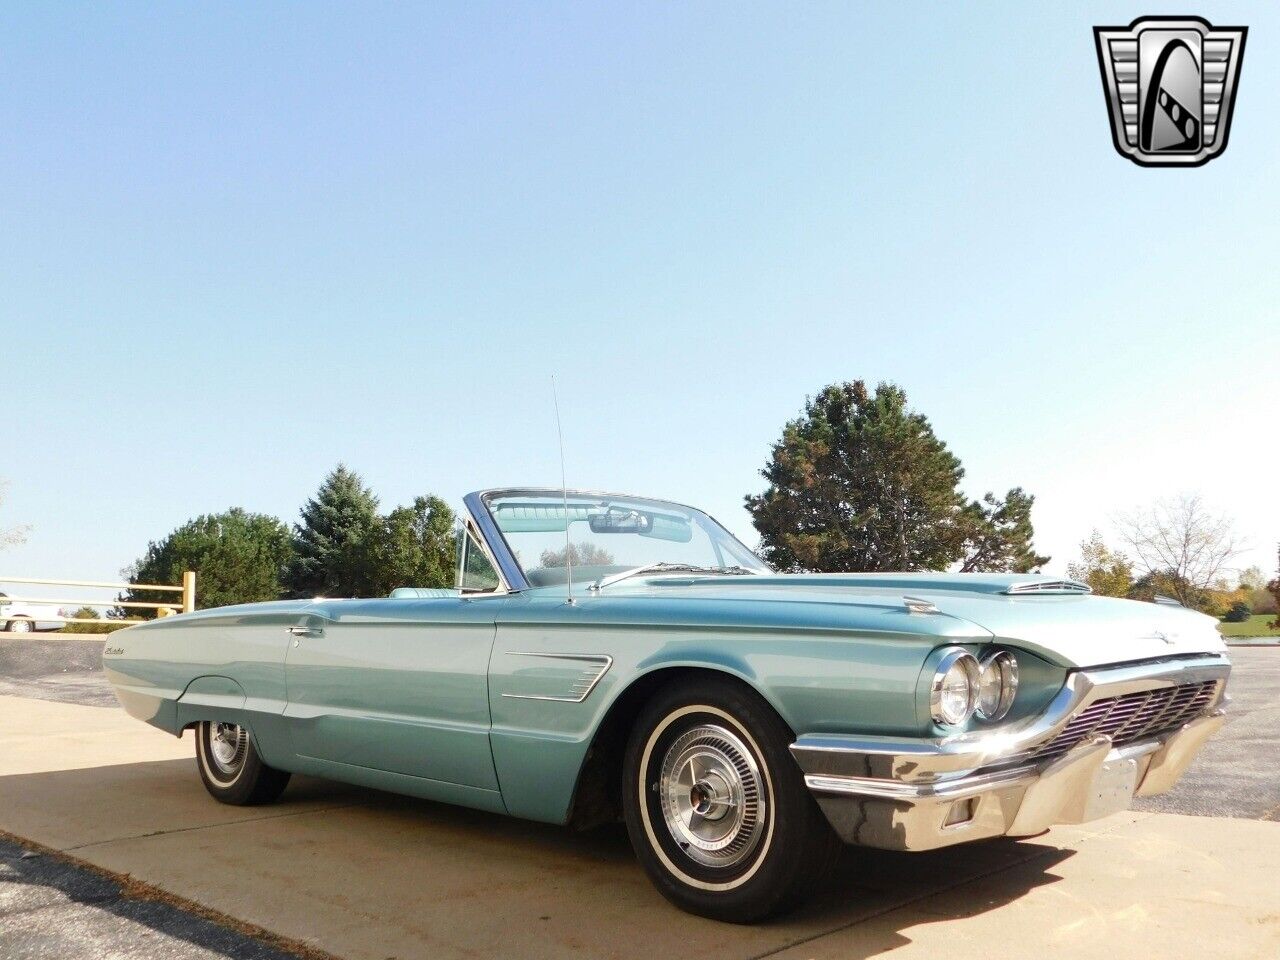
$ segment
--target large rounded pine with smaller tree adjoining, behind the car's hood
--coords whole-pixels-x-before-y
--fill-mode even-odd
[[[760,553],[780,570],[1025,571],[1047,562],[1032,549],[1034,498],[966,500],[964,468],[906,394],[882,383],[833,384],[786,425],[746,498]]]

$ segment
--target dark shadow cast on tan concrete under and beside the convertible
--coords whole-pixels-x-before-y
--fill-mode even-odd
[[[1041,841],[925,854],[850,849],[800,910],[740,927],[668,905],[621,824],[575,832],[310,777],[296,777],[271,806],[225,806],[205,794],[192,760],[0,777],[0,831],[283,938],[274,954],[228,952],[268,947],[180,905],[122,896],[113,881],[83,887],[100,910],[228,957],[287,956],[279,950],[305,942],[338,956],[401,960],[662,952],[732,959],[808,951],[841,931],[842,957],[870,956],[910,942],[902,931],[920,923],[931,897],[948,892],[951,910],[993,910],[1056,882],[1051,868],[1073,852]],[[20,878],[9,882],[44,884],[79,902],[72,891],[83,881],[73,873],[6,863]],[[1001,882],[991,882],[997,874]],[[895,911],[902,908],[910,909],[899,924]],[[4,922],[0,913],[0,929]],[[865,927],[852,929],[859,924]]]

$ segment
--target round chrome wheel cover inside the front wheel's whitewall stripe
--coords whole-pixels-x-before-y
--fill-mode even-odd
[[[735,867],[765,827],[763,778],[755,758],[730,730],[699,724],[662,759],[658,795],[672,840],[704,867]]]

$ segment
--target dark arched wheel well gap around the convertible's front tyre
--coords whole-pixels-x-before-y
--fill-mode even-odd
[[[631,727],[654,694],[676,681],[696,676],[730,680],[755,692],[744,680],[709,667],[664,667],[637,678],[618,695],[595,731],[573,790],[568,817],[571,827],[590,829],[622,818],[622,758]]]

